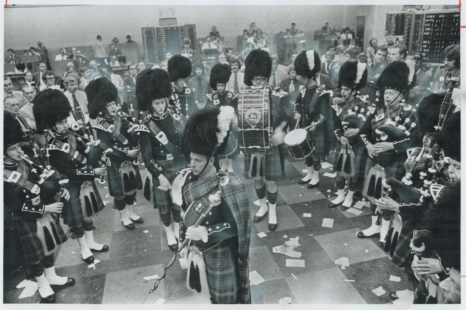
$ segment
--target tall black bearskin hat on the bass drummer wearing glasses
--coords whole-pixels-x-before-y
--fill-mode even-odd
[[[272,58],[263,50],[254,49],[244,60],[244,83],[253,86],[254,76],[264,76],[267,79],[272,74]]]

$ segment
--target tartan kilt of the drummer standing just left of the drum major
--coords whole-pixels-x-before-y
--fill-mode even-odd
[[[157,160],[154,159],[154,162],[162,167],[162,174],[170,182],[181,168],[183,164],[181,161],[176,162],[175,160]],[[160,181],[158,178],[152,178],[153,191],[154,191],[154,208],[159,209],[162,214],[165,214],[171,210],[173,207],[173,201],[171,200],[170,191],[161,191],[158,189],[160,186]]]

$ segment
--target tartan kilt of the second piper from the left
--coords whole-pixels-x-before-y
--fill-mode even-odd
[[[99,211],[102,211],[105,205],[103,204],[102,198],[100,197],[99,190],[97,189],[96,182],[90,181],[92,184],[92,188],[94,190],[94,194],[96,196],[97,205],[99,207]],[[84,182],[82,182],[84,183]],[[73,224],[82,223],[85,218],[88,218],[83,214],[84,209],[82,207],[80,194],[81,194],[81,185],[80,182],[70,182],[68,183],[68,191],[69,191],[69,200],[63,201],[63,209],[62,209],[62,217],[63,217],[63,224],[68,226],[73,226]]]

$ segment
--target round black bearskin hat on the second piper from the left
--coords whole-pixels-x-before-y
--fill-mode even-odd
[[[71,105],[60,90],[42,90],[35,96],[32,111],[37,131],[42,132],[69,117]]]

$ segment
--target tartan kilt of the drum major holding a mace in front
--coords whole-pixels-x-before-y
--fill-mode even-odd
[[[212,243],[192,241],[200,251],[212,247]],[[238,260],[228,241],[203,252],[207,282],[212,303],[239,303]]]

